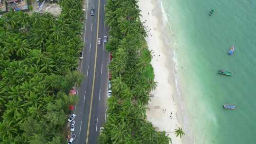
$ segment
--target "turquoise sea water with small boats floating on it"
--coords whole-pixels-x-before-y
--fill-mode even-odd
[[[256,0],[162,2],[195,144],[256,144]]]

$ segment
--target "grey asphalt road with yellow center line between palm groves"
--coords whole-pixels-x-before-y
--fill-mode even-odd
[[[103,43],[103,36],[108,35],[108,27],[104,24],[106,1],[88,0],[83,28],[83,59],[79,64],[79,71],[85,78],[77,89],[79,102],[74,109],[77,115],[74,144],[97,144],[100,127],[106,121],[109,63],[109,54]],[[92,8],[94,16],[91,16]],[[98,37],[101,45],[97,45]]]

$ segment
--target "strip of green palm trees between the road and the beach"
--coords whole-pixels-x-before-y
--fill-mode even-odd
[[[107,49],[112,96],[99,144],[169,144],[165,132],[146,120],[149,92],[156,88],[151,52],[137,0],[108,0],[105,22],[111,28]]]

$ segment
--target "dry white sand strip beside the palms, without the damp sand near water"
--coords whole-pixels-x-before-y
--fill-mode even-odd
[[[161,39],[162,27],[159,24],[162,16],[159,9],[157,11],[155,9],[159,5],[152,4],[151,0],[139,0],[138,5],[141,9],[141,21],[145,22],[144,26],[148,31],[146,41],[149,50],[152,50],[153,58],[151,64],[154,67],[155,81],[158,82],[156,90],[151,92],[154,97],[151,98],[151,102],[147,106],[149,108],[146,112],[147,119],[152,122],[153,126],[157,127],[157,130],[165,131],[172,139],[173,144],[182,144],[180,137],[170,133],[182,126],[176,117],[175,83],[168,81],[172,70],[166,66],[165,42]]]

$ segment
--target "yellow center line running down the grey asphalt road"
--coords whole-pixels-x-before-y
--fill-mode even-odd
[[[94,70],[93,70],[92,90],[91,90],[91,105],[90,105],[89,120],[88,120],[88,126],[87,126],[88,128],[87,128],[87,135],[86,135],[86,143],[85,144],[88,144],[88,137],[89,137],[89,131],[90,131],[91,107],[92,107],[92,99],[93,99],[96,62],[97,62],[97,50],[98,50],[97,39],[98,39],[98,36],[99,36],[99,19],[100,19],[100,0],[99,0],[99,6],[98,6],[97,38],[96,38],[96,49],[95,49],[95,61],[94,61]]]

